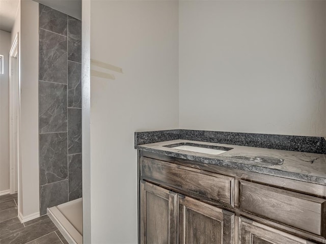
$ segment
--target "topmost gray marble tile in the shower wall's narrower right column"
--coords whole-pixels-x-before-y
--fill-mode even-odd
[[[82,63],[82,21],[68,16],[68,60]]]

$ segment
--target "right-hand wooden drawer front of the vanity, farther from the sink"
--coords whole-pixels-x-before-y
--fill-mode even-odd
[[[326,199],[240,180],[240,208],[325,236]]]

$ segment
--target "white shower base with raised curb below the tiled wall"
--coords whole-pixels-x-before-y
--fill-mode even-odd
[[[69,244],[83,244],[83,198],[50,207],[47,215]]]

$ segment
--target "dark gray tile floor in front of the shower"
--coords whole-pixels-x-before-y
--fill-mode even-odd
[[[68,244],[45,215],[23,224],[17,218],[17,194],[0,196],[1,244]]]

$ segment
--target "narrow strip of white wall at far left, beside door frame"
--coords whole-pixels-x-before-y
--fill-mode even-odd
[[[0,193],[9,190],[9,52],[11,34],[0,31],[0,55],[4,55],[4,74],[0,74]]]

